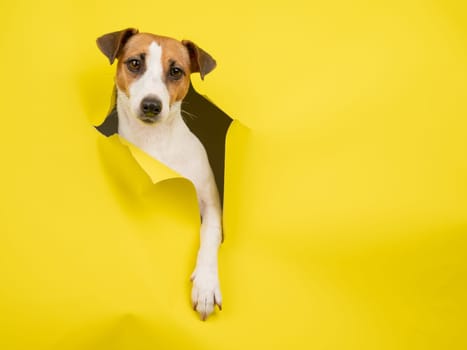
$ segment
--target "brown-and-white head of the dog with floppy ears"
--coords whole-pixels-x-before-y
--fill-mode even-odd
[[[139,33],[134,28],[105,34],[97,46],[110,64],[118,60],[116,85],[129,112],[146,124],[166,120],[179,108],[190,86],[190,74],[201,78],[216,61],[189,40]]]

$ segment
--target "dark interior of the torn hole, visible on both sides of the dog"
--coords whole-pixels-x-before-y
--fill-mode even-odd
[[[225,138],[232,123],[232,118],[206,97],[196,92],[191,84],[188,94],[182,102],[182,116],[191,132],[198,137],[206,149],[216,179],[221,203],[223,203]],[[101,125],[96,126],[96,129],[105,136],[118,133],[115,89],[109,114]]]

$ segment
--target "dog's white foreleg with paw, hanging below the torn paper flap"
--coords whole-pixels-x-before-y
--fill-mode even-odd
[[[221,210],[218,205],[208,204],[201,208],[201,217],[200,247],[196,268],[191,276],[191,300],[194,310],[204,321],[214,311],[215,305],[222,310],[218,273],[218,250],[222,240]]]

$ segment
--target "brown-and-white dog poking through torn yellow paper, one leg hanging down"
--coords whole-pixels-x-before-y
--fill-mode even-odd
[[[206,151],[183,121],[181,105],[191,84],[190,74],[197,72],[204,79],[216,61],[192,41],[134,28],[105,34],[97,39],[97,46],[110,64],[118,61],[119,135],[195,186],[201,228],[191,300],[204,321],[216,305],[222,310],[218,276],[222,210]]]

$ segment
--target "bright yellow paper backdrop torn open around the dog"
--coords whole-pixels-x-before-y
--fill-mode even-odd
[[[466,349],[465,1],[2,1],[0,349]],[[224,310],[192,186],[92,127],[95,38],[191,39],[227,142]]]

